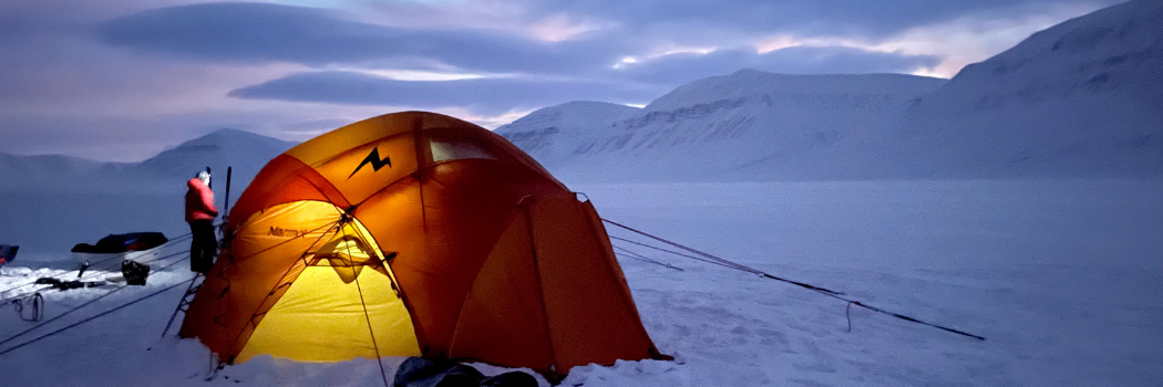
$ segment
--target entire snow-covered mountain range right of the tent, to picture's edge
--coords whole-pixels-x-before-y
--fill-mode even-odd
[[[743,70],[593,106],[498,132],[582,181],[1160,175],[1163,2],[1069,20],[948,81]]]

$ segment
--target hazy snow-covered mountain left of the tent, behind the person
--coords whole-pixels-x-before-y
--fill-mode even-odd
[[[108,234],[188,231],[185,181],[214,170],[216,205],[231,202],[270,159],[294,143],[240,130],[219,130],[141,163],[99,163],[65,156],[0,155],[0,243],[21,245],[22,259],[60,259],[77,243]]]

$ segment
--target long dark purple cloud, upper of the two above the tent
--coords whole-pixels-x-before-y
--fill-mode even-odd
[[[542,42],[497,30],[412,30],[361,23],[336,12],[266,3],[201,3],[100,23],[97,36],[143,53],[226,63],[376,63],[468,71],[565,73],[612,65],[628,44],[613,36]],[[420,60],[429,59],[429,60]]]

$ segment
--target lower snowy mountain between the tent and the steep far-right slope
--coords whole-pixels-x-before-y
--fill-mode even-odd
[[[534,112],[498,134],[571,179],[719,179],[741,165],[884,131],[911,100],[942,84],[902,74],[742,70],[687,84],[642,109],[571,102]]]

